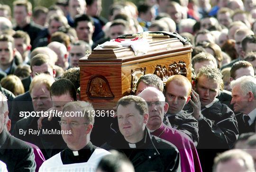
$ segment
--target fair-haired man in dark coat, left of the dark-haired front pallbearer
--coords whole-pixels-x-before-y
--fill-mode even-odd
[[[29,93],[32,98],[33,112],[19,112],[23,119],[16,122],[13,135],[21,140],[27,141],[41,148],[41,141],[37,130],[37,120],[52,107],[50,87],[55,82],[54,78],[47,74],[39,74],[33,78]]]

